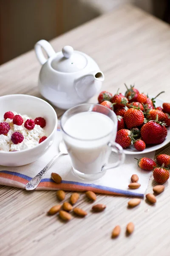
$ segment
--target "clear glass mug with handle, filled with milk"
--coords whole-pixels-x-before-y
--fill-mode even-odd
[[[81,179],[96,180],[125,160],[122,147],[115,143],[117,116],[102,105],[87,103],[68,109],[61,118],[61,131],[73,172]],[[108,164],[111,151],[118,160]]]

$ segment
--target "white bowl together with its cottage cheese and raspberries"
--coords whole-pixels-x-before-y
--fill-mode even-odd
[[[57,114],[34,96],[0,97],[0,165],[22,166],[41,157],[57,131]]]

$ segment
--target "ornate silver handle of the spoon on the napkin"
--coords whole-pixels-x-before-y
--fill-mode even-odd
[[[39,172],[32,180],[30,180],[26,184],[26,190],[34,190],[40,184],[42,178],[44,177],[45,173],[48,171],[50,166],[54,163],[54,161],[62,154],[60,151],[55,157],[51,159],[51,161]]]

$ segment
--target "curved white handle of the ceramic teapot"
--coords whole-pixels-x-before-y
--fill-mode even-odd
[[[37,55],[38,60],[43,65],[47,61],[47,59],[45,58],[42,52],[42,48],[45,50],[49,58],[55,54],[55,51],[51,46],[51,44],[48,43],[48,41],[46,40],[40,40],[35,44],[34,46],[35,53]]]

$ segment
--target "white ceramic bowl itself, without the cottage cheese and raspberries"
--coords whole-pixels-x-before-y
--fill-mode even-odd
[[[44,117],[47,139],[34,148],[14,152],[0,151],[0,165],[22,166],[34,162],[48,150],[54,141],[57,131],[57,114],[54,108],[40,98],[25,94],[14,94],[0,97],[0,120],[3,119],[3,115],[7,111],[27,114],[33,119],[38,116]]]

